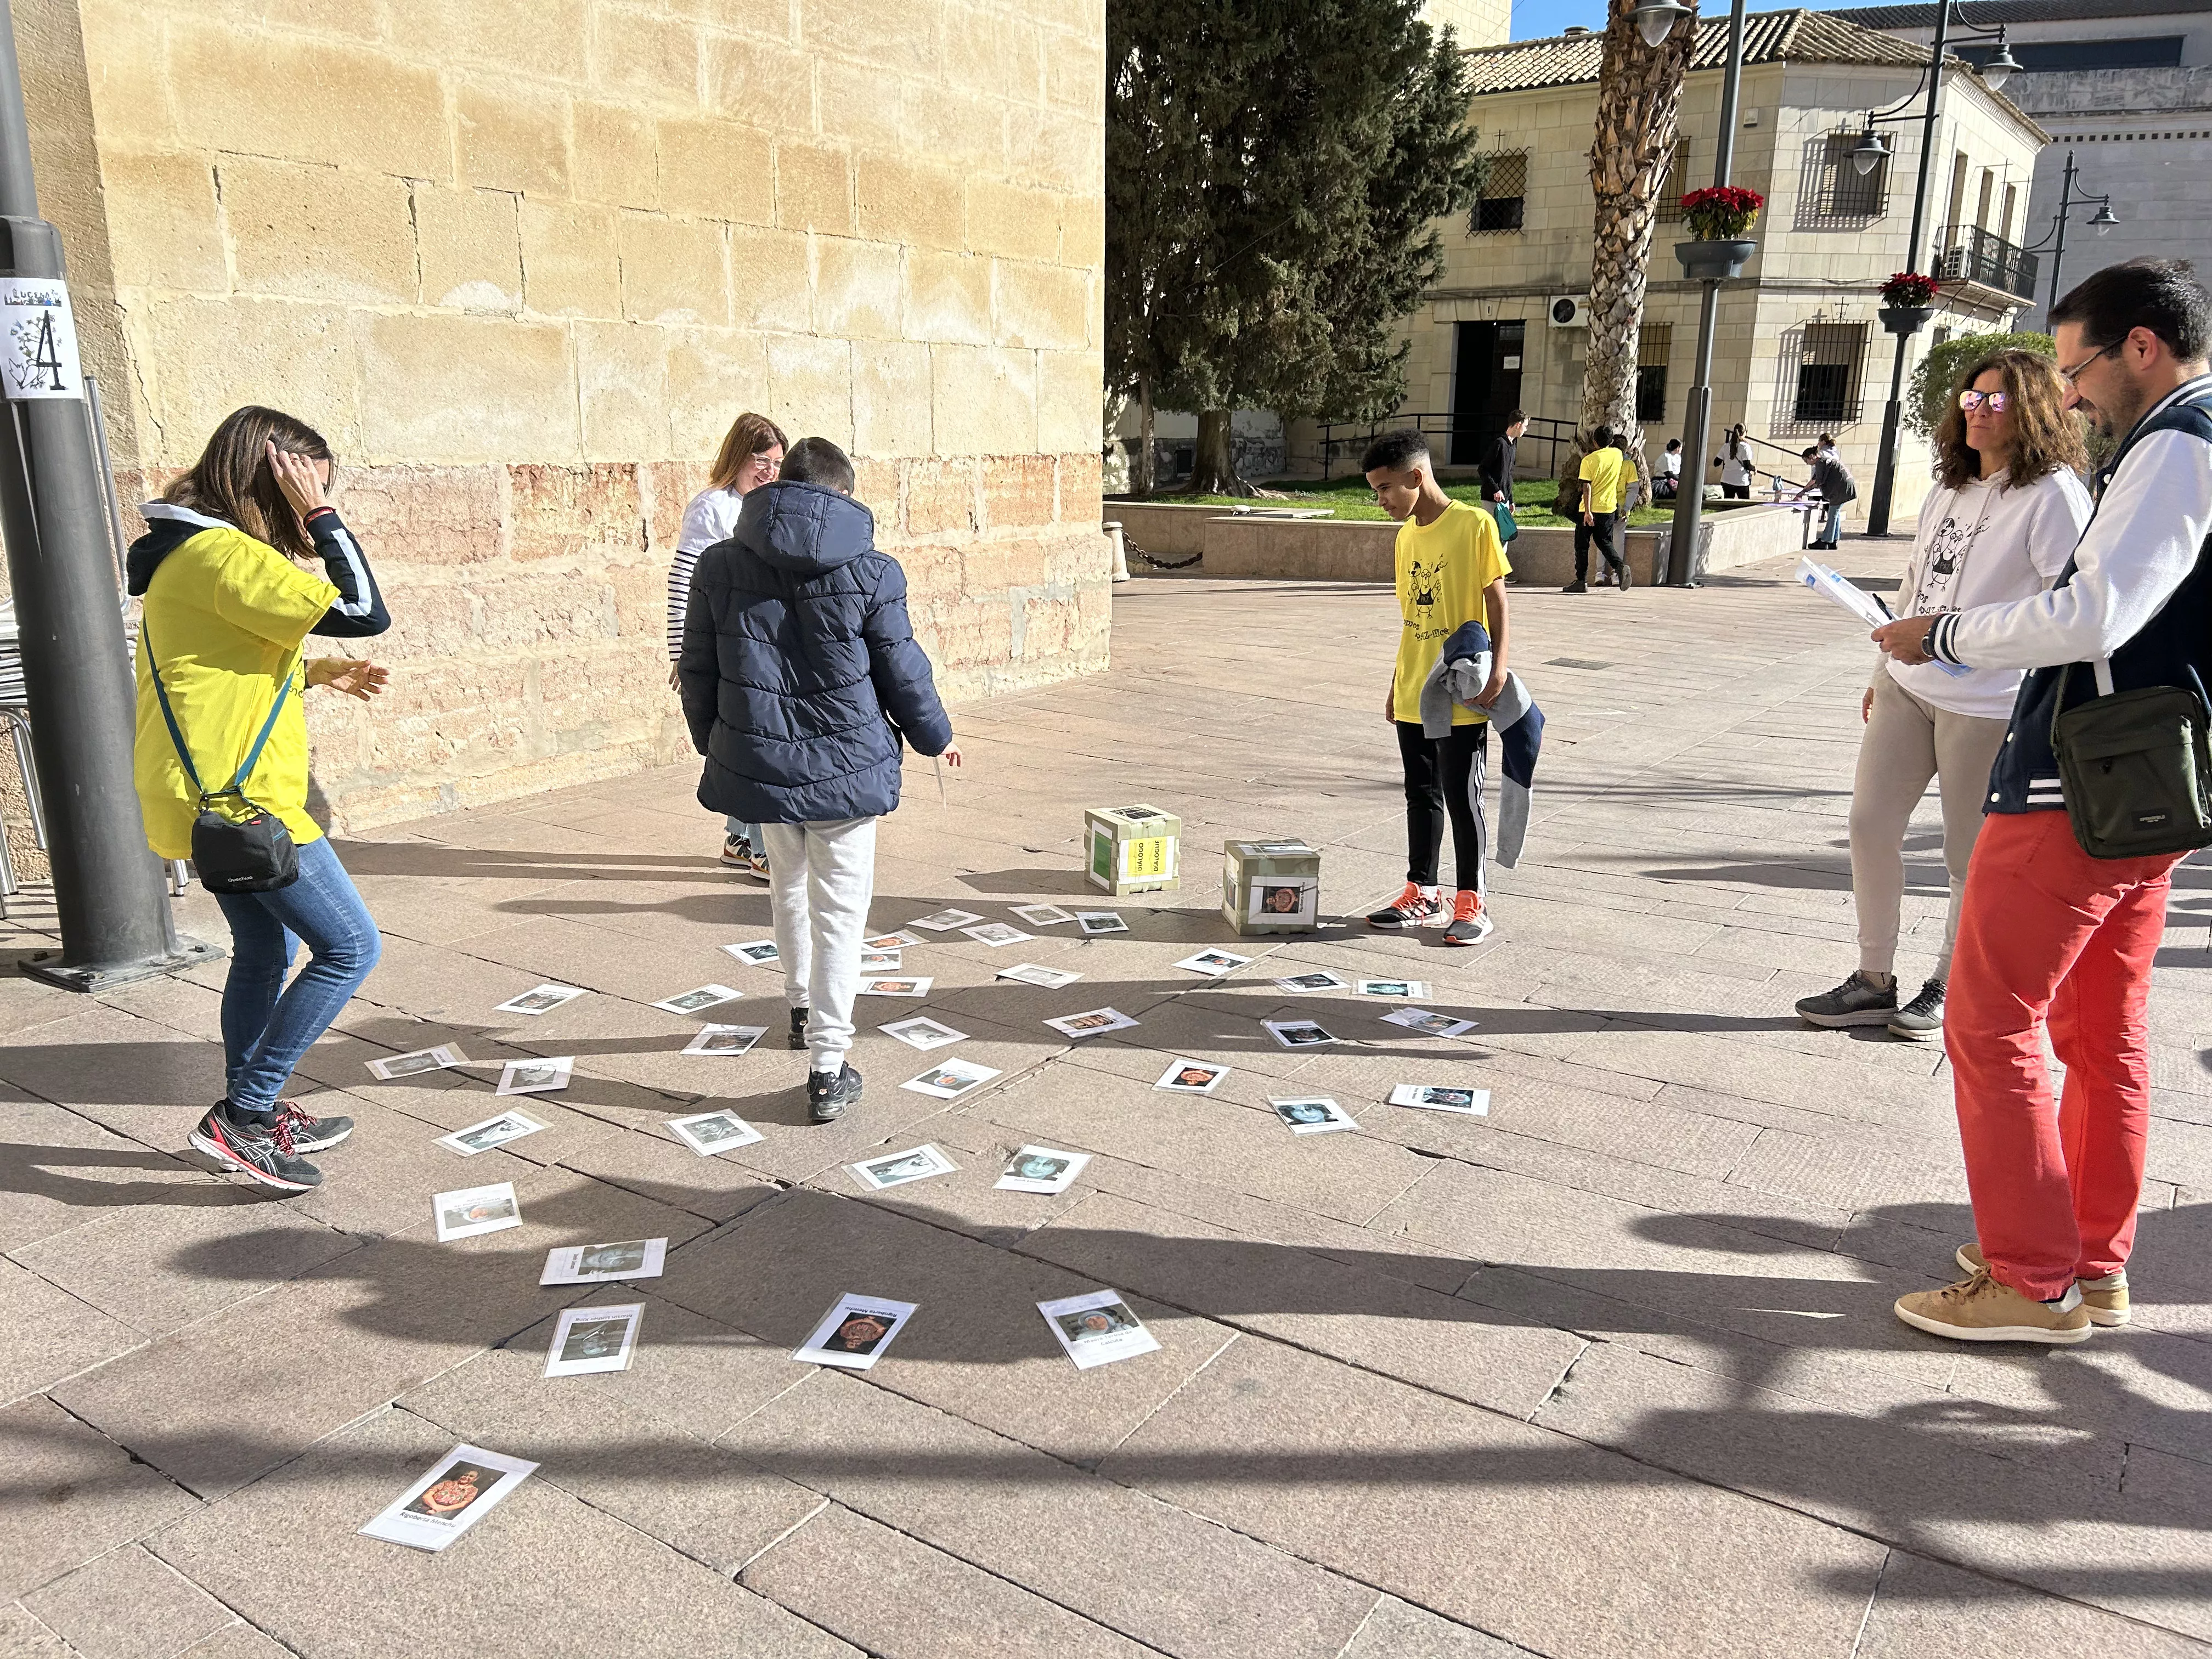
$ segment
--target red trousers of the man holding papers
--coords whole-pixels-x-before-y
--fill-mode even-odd
[[[2135,1245],[2150,962],[2177,863],[2090,858],[2064,812],[1991,814],[1973,845],[1944,1046],[1982,1256],[2037,1301],[2117,1274]]]

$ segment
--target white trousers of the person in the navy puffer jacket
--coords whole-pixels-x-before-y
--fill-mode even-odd
[[[810,1009],[807,1064],[836,1071],[852,1053],[860,940],[876,896],[876,821],[763,823],[761,838],[783,1000]]]

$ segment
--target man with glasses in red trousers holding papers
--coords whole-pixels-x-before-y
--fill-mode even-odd
[[[2051,719],[2146,686],[2212,684],[2212,292],[2185,261],[2099,270],[2051,310],[2068,400],[2121,438],[2057,586],[1876,628],[1902,664],[2026,668],[1989,776],[1944,1037],[1975,1243],[1898,1318],[1962,1340],[2079,1343],[2128,1323],[2150,1119],[2150,964],[2181,854],[2090,858]],[[2053,1099],[2042,1031],[2066,1066]]]

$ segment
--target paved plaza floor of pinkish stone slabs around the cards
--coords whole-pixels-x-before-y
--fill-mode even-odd
[[[697,1020],[650,1006],[721,980],[745,1000],[706,1018],[783,1024],[776,975],[717,949],[768,898],[714,865],[692,768],[341,843],[387,942],[303,1068],[358,1121],[307,1197],[179,1150],[221,1093],[219,964],[97,1002],[0,980],[0,1652],[2212,1652],[2212,869],[2179,872],[2159,956],[2137,1323],[1962,1352],[1889,1312],[1971,1237],[1942,1051],[1792,1013],[1856,962],[1863,639],[1785,564],[1517,591],[1551,726],[1495,936],[1234,945],[1230,836],[1323,847],[1325,914],[1396,894],[1396,635],[1385,588],[1141,580],[1113,672],[956,710],[967,772],[940,805],[909,763],[878,927],[1082,900],[1086,805],[1179,812],[1186,883],[1113,902],[1121,936],[909,949],[933,991],[863,1000],[867,1097],[827,1128],[774,1035],[686,1055]],[[1911,874],[1909,987],[1933,801]],[[223,938],[204,894],[181,920]],[[1259,960],[1170,967],[1203,945]],[[993,978],[1015,960],[1082,980]],[[1314,969],[1429,980],[1478,1029],[1274,989]],[[493,1013],[542,980],[593,995]],[[1042,1024],[1102,1004],[1137,1026]],[[914,1013],[969,1035],[876,1031]],[[1279,1048],[1285,1013],[1340,1042]],[[440,1042],[573,1055],[522,1102],[549,1130],[438,1146],[495,1071],[365,1062]],[[1002,1075],[898,1086],[945,1055]],[[1232,1073],[1159,1093],[1168,1057]],[[1402,1082],[1491,1113],[1385,1104]],[[1292,1093],[1358,1130],[1287,1133]],[[666,1128],[717,1106],[763,1139]],[[956,1172],[845,1168],[925,1141]],[[1024,1144],[1091,1161],[998,1190]],[[524,1223],[436,1243],[431,1194],[495,1181]],[[538,1285],[555,1245],[664,1234],[661,1279]],[[1159,1352],[1077,1371],[1037,1303],[1102,1287]],[[920,1312],[867,1374],[794,1363],[843,1292]],[[542,1376],[577,1303],[644,1303],[628,1371]],[[358,1535],[456,1442],[542,1467],[442,1555]]]

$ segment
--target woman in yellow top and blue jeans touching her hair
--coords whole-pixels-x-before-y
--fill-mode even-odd
[[[303,659],[307,635],[367,639],[392,626],[367,555],[327,502],[330,445],[276,409],[234,411],[199,462],[139,511],[126,586],[144,595],[137,650],[133,781],[146,841],[192,856],[192,821],[226,781],[279,818],[299,876],[268,891],[217,891],[230,922],[223,980],[223,1099],[190,1144],[279,1192],[323,1175],[303,1155],[354,1133],[279,1099],[292,1066],[376,967],[383,940],[345,865],[307,816],[310,686],[376,697],[385,670],[345,657]],[[321,566],[321,575],[310,564]],[[204,872],[206,874],[206,872]],[[296,940],[307,967],[292,984]]]

